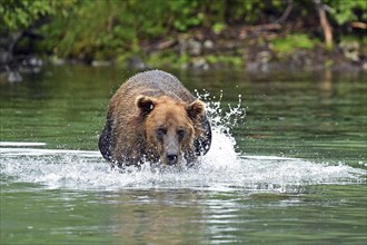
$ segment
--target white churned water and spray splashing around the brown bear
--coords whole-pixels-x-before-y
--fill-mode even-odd
[[[299,193],[304,186],[366,182],[366,170],[345,164],[317,164],[297,158],[241,156],[230,129],[245,115],[238,106],[222,109],[208,99],[212,145],[200,164],[189,169],[157,170],[149,165],[128,173],[111,170],[99,151],[29,148],[43,145],[1,143],[1,184],[21,182],[46,188],[121,189],[189,188],[215,192]],[[202,98],[202,97],[201,97]]]

